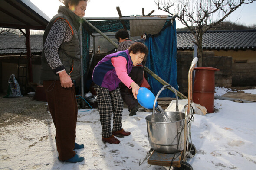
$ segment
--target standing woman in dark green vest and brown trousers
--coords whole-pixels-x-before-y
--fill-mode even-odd
[[[75,143],[77,103],[72,80],[80,78],[80,43],[78,30],[85,15],[87,0],[63,0],[58,14],[53,16],[43,35],[41,80],[46,92],[49,111],[56,129],[58,159],[81,162],[74,149],[84,148]]]

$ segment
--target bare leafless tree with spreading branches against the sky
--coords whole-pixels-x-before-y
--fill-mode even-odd
[[[202,38],[203,34],[226,19],[243,4],[256,0],[154,0],[159,10],[174,16],[187,26],[194,35],[197,45],[198,66],[202,67]],[[173,12],[171,12],[173,11]]]

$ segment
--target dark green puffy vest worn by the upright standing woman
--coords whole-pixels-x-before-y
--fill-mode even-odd
[[[73,34],[73,38],[69,42],[62,42],[60,45],[59,58],[65,67],[67,74],[70,74],[72,80],[76,80],[80,77],[81,71],[80,43],[78,35],[80,17],[65,6],[59,6],[58,14],[53,16],[46,26],[43,35],[43,45],[53,23],[59,18],[65,19],[68,22]],[[41,58],[41,80],[59,80],[59,75],[53,72],[46,61],[44,50],[42,51]]]

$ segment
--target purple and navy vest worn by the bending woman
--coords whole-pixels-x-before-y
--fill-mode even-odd
[[[129,50],[119,51],[116,53],[112,53],[110,55],[102,58],[101,61],[98,62],[96,67],[93,70],[92,81],[102,87],[108,88],[109,91],[117,89],[119,87],[119,83],[121,80],[118,78],[115,67],[111,63],[112,57],[125,57],[127,61],[126,69],[127,74],[131,73],[132,64],[131,57],[129,55]]]

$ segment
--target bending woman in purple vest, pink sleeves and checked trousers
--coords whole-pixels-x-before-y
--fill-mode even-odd
[[[132,89],[137,99],[140,88],[128,74],[133,66],[140,64],[148,54],[146,45],[135,42],[128,50],[119,51],[102,58],[93,70],[92,81],[95,83],[98,111],[102,125],[102,141],[119,144],[115,136],[128,136],[131,133],[122,128],[123,101],[119,83]],[[111,117],[113,113],[113,129],[111,131]]]

